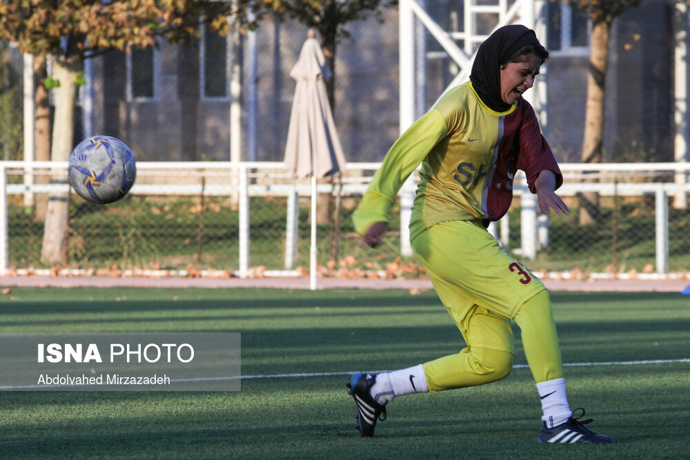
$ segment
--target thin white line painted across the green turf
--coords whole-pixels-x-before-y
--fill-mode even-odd
[[[591,367],[591,366],[640,366],[644,364],[670,364],[670,363],[690,363],[690,358],[683,359],[652,359],[647,361],[604,361],[600,363],[564,363],[564,367]],[[529,368],[526,364],[515,364],[513,369]],[[170,379],[170,382],[186,383],[186,382],[202,382],[202,381],[224,381],[224,380],[253,380],[253,379],[295,379],[304,377],[333,377],[337,375],[352,375],[357,372],[369,372],[371,374],[380,374],[382,372],[390,372],[388,370],[371,370],[371,371],[353,371],[353,372],[309,372],[300,374],[259,374],[259,375],[242,375],[242,376],[228,376],[228,377],[197,377],[195,379]],[[79,384],[66,383],[63,385],[26,385],[26,386],[0,386],[0,391],[12,390],[34,390],[37,388],[66,388],[72,386],[85,386]],[[91,386],[91,385],[90,385]]]

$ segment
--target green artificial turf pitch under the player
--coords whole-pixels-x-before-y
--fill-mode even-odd
[[[357,438],[346,373],[464,346],[432,291],[12,288],[0,332],[241,332],[244,379],[239,392],[0,392],[0,457],[687,457],[690,299],[552,299],[571,407],[616,445],[536,442],[540,403],[518,330],[509,377],[396,399],[377,437]],[[658,360],[670,362],[644,363]]]

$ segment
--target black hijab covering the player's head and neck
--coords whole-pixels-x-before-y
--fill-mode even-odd
[[[505,112],[511,108],[501,97],[500,66],[514,52],[533,43],[539,43],[534,30],[511,24],[493,32],[480,45],[472,64],[470,81],[486,106],[496,112]]]

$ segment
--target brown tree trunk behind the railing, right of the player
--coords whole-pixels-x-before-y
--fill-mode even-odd
[[[582,163],[602,162],[604,137],[604,82],[606,81],[611,23],[595,21],[592,26],[587,101],[582,141]],[[585,182],[588,180],[585,180]],[[592,181],[592,179],[589,179]],[[599,195],[595,192],[580,194],[580,223],[600,221]]]

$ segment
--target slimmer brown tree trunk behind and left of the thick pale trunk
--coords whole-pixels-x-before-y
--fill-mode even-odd
[[[34,158],[36,161],[50,161],[50,104],[46,88],[46,56],[34,56]],[[45,170],[43,170],[45,171]],[[48,183],[50,177],[39,170],[34,183]],[[48,208],[48,194],[35,194],[36,219],[44,221]]]

